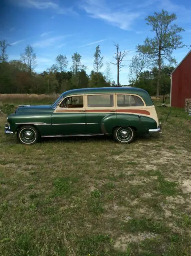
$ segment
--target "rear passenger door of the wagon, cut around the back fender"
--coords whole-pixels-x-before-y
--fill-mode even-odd
[[[102,134],[101,123],[106,116],[115,115],[115,94],[86,95],[86,132]]]

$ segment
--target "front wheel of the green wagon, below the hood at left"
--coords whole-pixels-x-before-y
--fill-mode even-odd
[[[21,144],[32,145],[38,141],[39,134],[34,126],[21,126],[18,129],[17,138]]]

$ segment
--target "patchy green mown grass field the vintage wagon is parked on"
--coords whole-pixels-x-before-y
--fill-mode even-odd
[[[0,255],[190,256],[191,117],[156,109],[163,133],[127,145],[23,146],[1,116]]]

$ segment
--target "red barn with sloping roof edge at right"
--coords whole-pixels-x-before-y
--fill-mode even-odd
[[[184,108],[185,99],[191,98],[191,50],[173,70],[170,77],[170,105],[176,108]]]

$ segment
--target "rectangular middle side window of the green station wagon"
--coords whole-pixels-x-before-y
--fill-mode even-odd
[[[113,95],[88,95],[88,107],[113,107]]]

